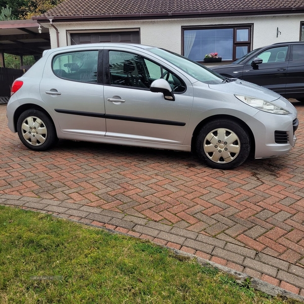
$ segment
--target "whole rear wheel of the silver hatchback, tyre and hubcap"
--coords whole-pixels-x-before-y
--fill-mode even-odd
[[[22,143],[35,151],[50,149],[58,140],[52,120],[37,109],[26,110],[19,116],[17,132]]]

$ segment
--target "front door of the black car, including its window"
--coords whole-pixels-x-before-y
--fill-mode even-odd
[[[279,94],[285,93],[288,46],[271,47],[256,54],[262,63],[251,65],[252,58],[244,65],[242,79],[266,87]]]

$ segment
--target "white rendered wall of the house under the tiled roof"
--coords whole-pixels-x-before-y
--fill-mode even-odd
[[[140,29],[141,44],[162,47],[181,54],[181,27],[200,25],[253,24],[252,49],[279,42],[299,41],[300,22],[304,15],[250,16],[231,18],[197,18],[141,21],[98,21],[55,23],[59,31],[59,46],[70,44],[69,32]],[[47,25],[47,24],[46,24]],[[281,32],[277,37],[277,28]],[[54,28],[50,27],[51,47],[57,47]]]

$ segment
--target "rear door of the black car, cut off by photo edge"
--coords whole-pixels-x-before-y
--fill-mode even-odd
[[[304,99],[304,44],[291,45],[286,96]]]

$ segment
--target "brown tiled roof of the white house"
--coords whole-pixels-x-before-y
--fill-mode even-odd
[[[65,0],[44,16],[100,16],[303,8],[302,0]]]

